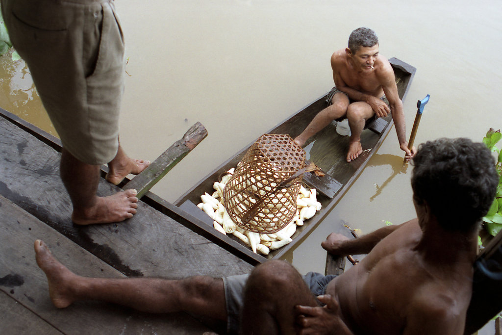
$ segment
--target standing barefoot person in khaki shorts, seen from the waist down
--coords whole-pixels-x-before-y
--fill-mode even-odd
[[[2,13],[61,139],[60,175],[73,222],[132,217],[136,190],[96,195],[101,164],[113,184],[150,164],[130,158],[118,142],[124,45],[113,0],[2,0]]]

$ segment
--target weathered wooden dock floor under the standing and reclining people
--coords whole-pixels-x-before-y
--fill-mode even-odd
[[[249,272],[253,266],[141,200],[131,219],[76,226],[59,177],[57,150],[0,117],[0,151],[0,333],[201,334],[221,330],[186,313],[151,315],[100,302],[56,309],[45,275],[35,263],[36,239],[44,240],[70,270],[85,276],[222,277]],[[99,195],[117,191],[118,187],[101,178]]]

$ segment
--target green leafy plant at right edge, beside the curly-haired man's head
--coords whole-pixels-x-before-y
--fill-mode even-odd
[[[496,146],[501,139],[500,130],[495,131],[493,128],[490,128],[486,133],[486,137],[483,138],[483,143],[488,149],[497,154],[497,162],[495,163],[499,176],[497,193],[488,213],[483,217],[486,231],[492,236],[497,235],[502,230],[502,151]]]

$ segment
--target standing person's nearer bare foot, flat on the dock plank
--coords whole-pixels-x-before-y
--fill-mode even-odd
[[[108,224],[133,217],[138,208],[135,189],[129,189],[105,197],[96,197],[94,206],[73,208],[71,219],[77,225]]]

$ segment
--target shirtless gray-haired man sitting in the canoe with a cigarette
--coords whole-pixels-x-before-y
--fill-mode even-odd
[[[347,118],[350,132],[347,162],[362,153],[361,133],[374,118],[392,115],[399,146],[410,160],[415,148],[408,149],[403,102],[399,98],[394,71],[389,61],[379,54],[378,37],[368,28],[354,30],[348,48],[331,56],[335,87],[326,99],[328,106],[321,110],[305,130],[295,138],[303,147],[307,140],[333,120]]]

